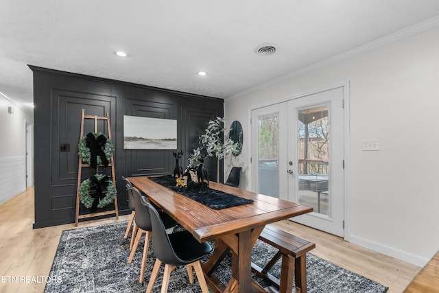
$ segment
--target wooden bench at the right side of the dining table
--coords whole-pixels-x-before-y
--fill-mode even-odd
[[[316,248],[305,239],[267,225],[259,239],[278,249],[278,252],[268,262],[265,268],[252,263],[252,272],[274,286],[280,293],[293,292],[293,277],[296,281],[296,292],[307,292],[307,257],[306,253]],[[282,257],[281,279],[277,279],[268,271]]]

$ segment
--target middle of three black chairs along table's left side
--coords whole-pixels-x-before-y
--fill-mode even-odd
[[[134,214],[134,222],[137,226],[136,239],[134,239],[134,244],[132,245],[130,257],[128,258],[128,263],[132,262],[137,247],[139,246],[140,239],[143,233],[145,233],[145,245],[143,246],[143,257],[142,257],[142,265],[141,265],[141,272],[139,278],[139,282],[143,283],[143,279],[145,277],[145,266],[146,266],[146,259],[148,255],[148,247],[150,246],[150,239],[152,236],[151,217],[150,217],[150,213],[148,213],[147,207],[145,207],[141,202],[142,195],[139,189],[132,186],[130,187],[128,185],[126,185],[126,188],[132,191],[132,196],[134,198],[134,209],[136,211],[136,213]],[[145,197],[145,201],[148,201],[146,197]],[[166,228],[171,228],[173,226],[176,226],[177,224],[177,222],[174,219],[172,219],[169,215],[167,215],[167,213],[161,212],[159,213],[159,217],[163,221]]]

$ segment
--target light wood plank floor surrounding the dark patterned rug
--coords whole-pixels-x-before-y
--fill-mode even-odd
[[[128,217],[123,215],[119,221],[128,220]],[[116,221],[115,218],[86,221],[79,227]],[[49,274],[61,232],[76,228],[74,224],[67,224],[33,230],[33,222],[33,188],[0,205],[0,292],[43,292],[45,283],[41,279]],[[300,224],[281,221],[275,225],[315,242],[314,255],[388,286],[389,293],[403,292],[420,271],[411,264]],[[22,279],[26,277],[27,280]]]

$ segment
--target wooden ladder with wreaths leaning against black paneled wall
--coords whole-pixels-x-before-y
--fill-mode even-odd
[[[97,132],[97,120],[106,120],[107,121],[107,131],[108,131],[108,139],[111,140],[111,128],[110,128],[110,115],[107,112],[106,117],[99,117],[94,115],[85,115],[85,110],[82,109],[82,115],[81,115],[81,136],[84,137],[84,120],[85,119],[94,119],[95,120],[95,132]],[[90,167],[88,164],[82,163],[82,158],[79,159],[79,165],[78,165],[78,189],[76,191],[76,217],[75,217],[75,225],[78,226],[78,222],[80,219],[84,218],[92,218],[97,217],[99,215],[111,215],[115,214],[116,219],[119,219],[119,211],[117,209],[117,196],[115,196],[115,209],[110,211],[101,211],[97,213],[87,213],[84,215],[80,215],[80,186],[81,186],[81,174],[82,174],[82,167]],[[115,164],[114,159],[111,154],[110,163],[108,166],[111,167],[111,176],[112,176],[112,183],[116,186],[116,176],[115,176]],[[96,167],[96,174],[99,172],[99,166]]]

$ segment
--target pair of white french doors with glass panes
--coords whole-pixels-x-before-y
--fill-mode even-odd
[[[344,236],[344,89],[252,110],[252,191],[313,207],[292,218]]]

